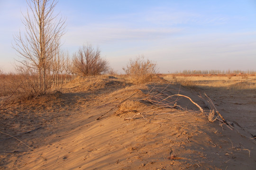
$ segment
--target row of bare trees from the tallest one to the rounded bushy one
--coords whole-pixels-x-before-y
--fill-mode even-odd
[[[27,13],[22,14],[25,33],[14,37],[13,48],[20,56],[19,73],[37,80],[29,80],[36,93],[45,93],[51,86],[63,84],[77,74],[99,75],[108,70],[108,62],[101,58],[99,48],[84,45],[71,59],[68,51],[61,50],[65,33],[65,18],[55,15],[56,0],[27,0]],[[61,75],[61,81],[59,80]],[[27,79],[28,81],[28,79]],[[26,82],[26,81],[25,81]]]

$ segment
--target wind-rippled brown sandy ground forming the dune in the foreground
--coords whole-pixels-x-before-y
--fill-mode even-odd
[[[45,96],[4,106],[0,169],[255,169],[254,92],[225,94],[169,85],[162,78],[154,82],[132,85],[113,76],[79,77]],[[205,112],[177,96],[166,102],[183,109],[160,108],[144,100],[153,92],[189,96]],[[203,92],[229,126],[208,121],[208,106],[199,97]]]

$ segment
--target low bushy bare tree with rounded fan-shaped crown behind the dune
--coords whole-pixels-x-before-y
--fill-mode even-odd
[[[101,58],[99,48],[94,49],[91,44],[83,45],[73,56],[76,71],[83,76],[100,75],[108,71],[108,62]]]

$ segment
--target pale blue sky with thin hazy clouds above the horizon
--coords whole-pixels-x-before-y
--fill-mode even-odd
[[[24,33],[26,0],[0,0],[0,68],[19,59],[13,36]],[[159,73],[183,70],[256,70],[256,0],[59,0],[66,17],[62,49],[101,49],[110,67],[124,73],[144,55]]]

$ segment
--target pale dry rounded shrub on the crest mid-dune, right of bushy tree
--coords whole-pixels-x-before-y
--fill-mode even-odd
[[[139,56],[135,60],[130,59],[123,70],[134,84],[144,84],[156,75],[156,63],[145,60],[144,56]]]

